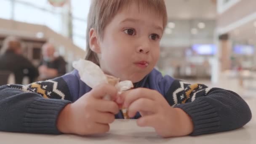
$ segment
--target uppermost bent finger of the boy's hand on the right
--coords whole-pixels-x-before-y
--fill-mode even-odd
[[[129,105],[136,101],[139,98],[147,98],[153,101],[156,100],[155,96],[157,95],[156,91],[150,90],[147,88],[136,88],[130,91],[126,91],[121,94],[122,99],[124,99],[124,107],[127,108]]]

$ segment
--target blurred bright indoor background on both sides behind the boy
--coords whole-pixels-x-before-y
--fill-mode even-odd
[[[168,25],[157,69],[191,83],[252,96],[256,91],[256,0],[165,3]],[[90,0],[0,0],[0,51],[18,41],[20,54],[32,64],[23,69],[21,84],[70,72],[72,61],[84,58],[89,6]],[[12,65],[5,59],[0,59],[0,68]],[[38,70],[32,76],[31,67]],[[0,70],[0,85],[17,83],[17,76]]]

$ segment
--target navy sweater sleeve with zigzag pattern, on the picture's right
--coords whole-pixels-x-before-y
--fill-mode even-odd
[[[230,131],[251,120],[248,104],[237,93],[221,88],[174,80],[165,99],[192,118],[191,135]]]

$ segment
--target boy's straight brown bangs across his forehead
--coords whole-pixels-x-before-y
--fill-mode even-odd
[[[167,23],[167,12],[164,0],[95,0],[93,11],[96,17],[91,19],[94,21],[94,28],[97,29],[100,37],[106,25],[113,19],[113,17],[124,8],[129,8],[132,3],[138,5],[139,11],[146,11],[149,13],[155,12],[163,18],[163,29]]]

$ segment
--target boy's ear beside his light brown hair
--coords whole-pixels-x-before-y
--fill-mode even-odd
[[[101,53],[101,48],[99,46],[99,37],[96,33],[96,30],[91,28],[89,32],[89,45],[93,52]]]

